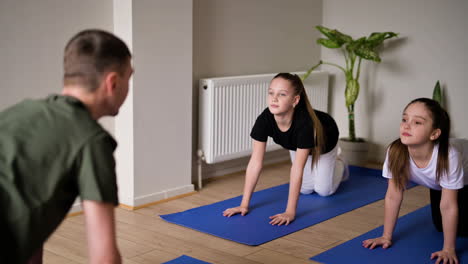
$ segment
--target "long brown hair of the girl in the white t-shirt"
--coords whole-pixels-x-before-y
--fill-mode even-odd
[[[434,141],[439,144],[439,154],[437,156],[436,180],[440,181],[443,173],[448,175],[449,170],[449,136],[450,117],[440,104],[429,98],[418,98],[411,101],[404,110],[411,104],[422,103],[429,111],[432,118],[432,128],[440,129],[440,136]],[[389,146],[388,167],[392,173],[393,180],[401,190],[405,189],[409,181],[409,152],[408,147],[400,139],[393,141]]]

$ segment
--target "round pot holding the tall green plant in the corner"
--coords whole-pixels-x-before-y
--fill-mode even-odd
[[[348,141],[346,138],[340,138],[338,144],[341,148],[341,156],[349,165],[366,165],[370,146],[368,142],[364,140],[355,142]]]

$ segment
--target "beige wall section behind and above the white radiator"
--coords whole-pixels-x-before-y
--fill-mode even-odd
[[[201,78],[303,71],[320,58],[313,30],[322,0],[194,0],[193,167],[198,138]],[[266,107],[266,106],[265,106]],[[286,152],[266,160],[287,159]],[[204,176],[245,169],[248,158],[204,167]],[[196,170],[193,170],[196,175]]]

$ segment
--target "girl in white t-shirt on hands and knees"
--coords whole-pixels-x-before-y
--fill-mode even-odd
[[[391,246],[403,192],[411,180],[430,188],[433,222],[444,234],[442,250],[432,253],[431,259],[437,258],[436,263],[458,263],[455,238],[468,235],[468,187],[463,176],[463,163],[468,169],[463,147],[468,150],[468,144],[458,140],[459,151],[449,142],[449,134],[450,118],[436,101],[419,98],[406,106],[400,138],[390,144],[383,166],[383,176],[389,179],[384,231],[381,237],[363,241],[364,247]]]

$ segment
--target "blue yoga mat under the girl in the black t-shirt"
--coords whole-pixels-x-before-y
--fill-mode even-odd
[[[296,219],[288,226],[272,226],[269,217],[284,212],[289,185],[284,184],[255,192],[250,212],[230,218],[223,211],[239,206],[242,196],[184,212],[161,215],[161,218],[238,243],[256,246],[315,225],[337,215],[375,202],[385,197],[387,180],[381,170],[350,166],[349,180],[341,183],[337,192],[328,197],[317,194],[300,195]]]

